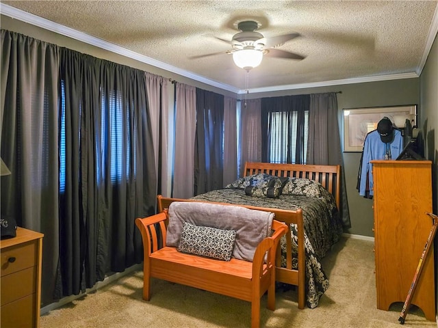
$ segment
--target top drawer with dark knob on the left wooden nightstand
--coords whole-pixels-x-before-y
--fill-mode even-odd
[[[34,267],[38,258],[36,251],[36,241],[1,249],[1,277]]]

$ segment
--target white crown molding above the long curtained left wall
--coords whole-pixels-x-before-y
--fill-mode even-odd
[[[97,46],[101,49],[111,51],[112,53],[117,53],[118,55],[123,55],[131,59],[136,59],[144,64],[155,66],[157,68],[162,68],[163,70],[167,70],[168,72],[173,72],[183,77],[188,77],[189,79],[193,79],[195,81],[205,83],[213,87],[218,87],[222,90],[234,92],[235,94],[239,92],[238,88],[232,87],[231,85],[227,85],[224,83],[219,83],[218,81],[207,79],[205,77],[202,77],[201,75],[189,72],[188,70],[181,70],[181,68],[177,68],[175,66],[166,64],[162,61],[153,59],[151,57],[140,55],[139,53],[123,48],[123,46],[112,44],[100,38],[96,38],[94,36],[90,36],[81,31],[77,31],[76,29],[71,29],[70,27],[66,27],[64,25],[55,23],[46,18],[42,18],[40,16],[30,14],[29,12],[25,12],[23,10],[19,10],[17,8],[11,7],[10,5],[5,5],[1,3],[0,8],[1,8],[1,14],[5,16],[10,16],[11,18],[22,20],[25,23],[29,23],[31,25],[41,27],[42,29],[47,29],[49,31],[53,31],[55,33],[61,34],[62,36],[67,36],[68,38],[73,38],[75,40],[85,42],[87,44],[91,44],[92,46]]]

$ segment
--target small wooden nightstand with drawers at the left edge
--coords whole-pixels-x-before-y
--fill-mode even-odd
[[[17,228],[0,241],[0,327],[39,327],[43,234]]]

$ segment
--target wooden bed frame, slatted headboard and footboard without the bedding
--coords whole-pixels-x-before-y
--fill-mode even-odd
[[[266,173],[272,176],[307,178],[320,182],[333,197],[335,197],[337,208],[339,208],[339,186],[341,179],[340,165],[298,165],[298,164],[279,164],[279,163],[257,163],[247,162],[245,164],[244,176]],[[181,198],[162,197],[158,195],[158,210],[162,212],[168,208],[172,202],[199,202]],[[278,208],[259,208],[256,206],[245,206],[257,210],[268,210],[276,213],[275,219],[283,221],[290,227],[290,224],[297,224],[298,231],[298,270],[292,269],[292,236],[286,234],[286,266],[281,267],[281,252],[277,251],[275,279],[277,282],[291,284],[298,288],[298,308],[305,308],[305,248],[304,248],[304,229],[302,223],[302,211],[287,211],[287,215]]]

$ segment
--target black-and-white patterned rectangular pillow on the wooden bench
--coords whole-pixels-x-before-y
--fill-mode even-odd
[[[178,251],[229,261],[233,254],[235,230],[223,230],[184,222]]]

